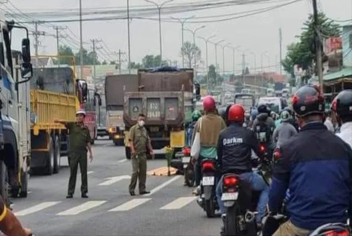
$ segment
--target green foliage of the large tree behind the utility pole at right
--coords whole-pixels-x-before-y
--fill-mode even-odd
[[[301,35],[296,36],[298,42],[287,46],[287,54],[282,61],[284,70],[293,78],[295,77],[294,65],[299,65],[303,70],[309,71],[312,68],[313,61],[315,61],[315,27],[313,24],[313,15],[310,15],[303,25]],[[340,26],[327,18],[324,13],[318,14],[317,30],[321,32],[319,35],[321,43],[323,43],[324,38],[339,36],[341,34]]]

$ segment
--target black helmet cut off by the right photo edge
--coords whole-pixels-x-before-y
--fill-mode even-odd
[[[331,110],[341,118],[352,115],[352,90],[341,91],[332,101]]]

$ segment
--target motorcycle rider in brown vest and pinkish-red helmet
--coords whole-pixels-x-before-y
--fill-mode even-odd
[[[201,150],[199,157],[192,158],[195,164],[196,186],[199,186],[202,178],[201,161],[203,159],[216,159],[216,147],[220,131],[226,128],[225,121],[218,115],[215,100],[212,96],[206,96],[203,99],[203,110],[205,115],[199,119],[193,129],[192,139],[194,140],[196,133],[200,132]],[[200,125],[202,122],[202,125]],[[202,129],[200,130],[200,126]],[[193,194],[198,195],[197,188],[193,190]]]

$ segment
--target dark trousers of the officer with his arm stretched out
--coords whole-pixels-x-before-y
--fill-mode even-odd
[[[76,188],[77,169],[79,164],[81,186],[80,192],[85,194],[88,192],[87,178],[87,153],[70,153],[69,154],[70,178],[68,181],[68,195],[73,195]]]

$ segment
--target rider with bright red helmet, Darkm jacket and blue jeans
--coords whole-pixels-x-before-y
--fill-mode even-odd
[[[253,131],[242,127],[244,122],[244,109],[241,105],[232,105],[228,112],[229,127],[221,131],[218,141],[218,170],[222,175],[233,173],[239,175],[241,180],[250,183],[255,191],[261,191],[258,201],[258,214],[256,222],[261,222],[266,205],[268,203],[269,186],[262,177],[252,171],[251,150],[255,152],[259,158],[259,143]],[[225,214],[224,203],[221,201],[222,195],[222,179],[216,187],[216,197],[222,214]],[[224,215],[223,215],[224,217]]]

